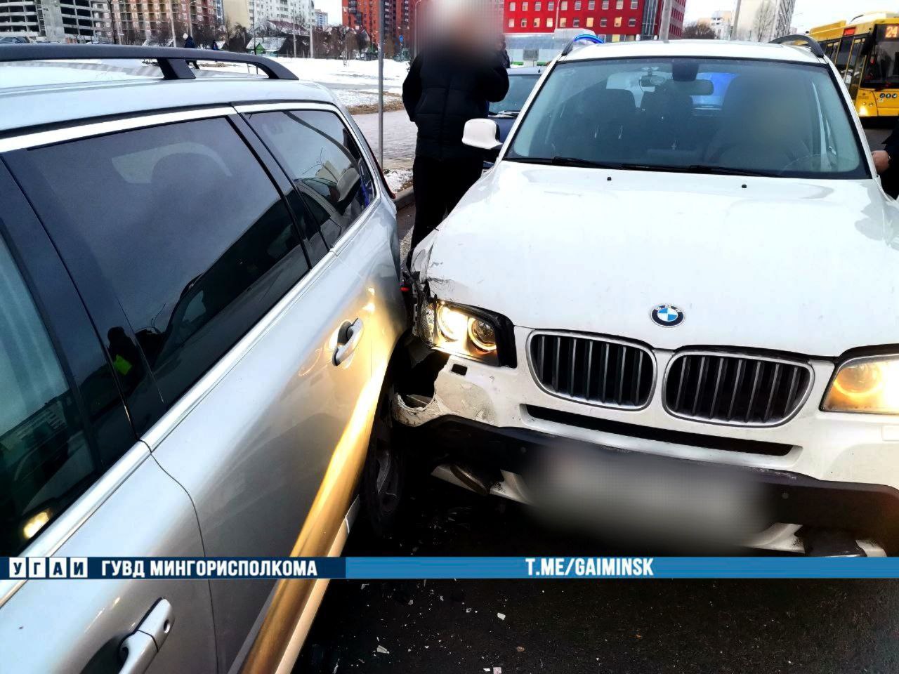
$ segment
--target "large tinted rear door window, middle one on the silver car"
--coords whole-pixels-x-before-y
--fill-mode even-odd
[[[28,155],[111,282],[166,403],[308,270],[286,205],[225,119]],[[134,357],[121,358],[120,373]]]

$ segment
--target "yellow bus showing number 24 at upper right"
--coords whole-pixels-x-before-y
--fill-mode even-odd
[[[808,35],[840,71],[860,118],[899,116],[899,13],[862,14]]]

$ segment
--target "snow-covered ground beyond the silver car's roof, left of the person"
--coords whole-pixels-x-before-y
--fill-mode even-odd
[[[378,92],[378,61],[352,59],[345,64],[340,58],[275,58],[301,80],[333,86],[334,89],[352,88],[368,93]],[[202,61],[200,63],[203,63]],[[208,64],[202,67],[245,73],[241,64]],[[403,80],[409,66],[392,59],[384,61],[384,91],[402,93]]]

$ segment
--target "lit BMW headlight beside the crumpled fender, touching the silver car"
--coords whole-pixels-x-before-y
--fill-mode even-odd
[[[488,365],[515,367],[512,324],[501,315],[428,299],[419,309],[416,328],[434,349]]]

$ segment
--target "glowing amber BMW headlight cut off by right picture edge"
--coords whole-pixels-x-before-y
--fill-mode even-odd
[[[837,369],[821,409],[899,414],[899,356],[847,360]]]

